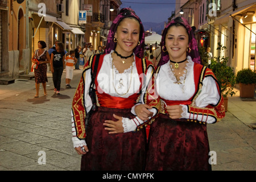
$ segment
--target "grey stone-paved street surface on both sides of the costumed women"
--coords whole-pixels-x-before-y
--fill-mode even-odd
[[[39,98],[34,98],[34,80],[0,85],[0,170],[80,169],[81,156],[71,140],[71,104],[81,73],[82,69],[74,70],[71,89],[64,88],[63,73],[61,95],[53,94],[51,73],[48,96],[41,87]],[[256,169],[255,108],[255,99],[241,100],[238,90],[229,97],[226,117],[208,125],[214,171]]]

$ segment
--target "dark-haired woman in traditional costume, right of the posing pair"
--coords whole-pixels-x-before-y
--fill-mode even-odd
[[[154,78],[158,102],[148,102],[159,114],[150,126],[146,170],[210,170],[207,123],[225,117],[220,85],[200,64],[186,19],[167,24],[162,43]]]

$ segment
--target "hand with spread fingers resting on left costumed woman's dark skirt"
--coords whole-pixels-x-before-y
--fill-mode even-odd
[[[113,117],[118,119],[118,121],[105,120],[105,123],[103,123],[103,125],[106,126],[105,130],[108,130],[109,134],[123,133],[123,118],[115,114],[113,114]]]

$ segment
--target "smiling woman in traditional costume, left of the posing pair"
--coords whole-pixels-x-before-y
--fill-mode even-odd
[[[113,126],[108,121],[135,117],[131,107],[141,100],[141,93],[154,73],[153,65],[142,59],[143,45],[141,20],[133,10],[122,9],[110,27],[104,54],[98,55],[99,58],[91,56],[84,67],[72,103],[72,140],[77,153],[82,154],[81,170],[144,169],[145,130],[134,133],[123,130],[111,135],[116,131],[108,127]],[[89,94],[92,72],[96,73],[97,107],[85,128],[85,117],[93,106]],[[125,126],[125,121],[121,125]]]

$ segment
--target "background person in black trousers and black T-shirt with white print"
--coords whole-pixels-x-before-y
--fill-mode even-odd
[[[65,52],[63,43],[59,42],[56,45],[56,51],[51,55],[51,72],[54,84],[54,93],[60,94],[61,76],[63,73],[63,66],[65,64]]]

